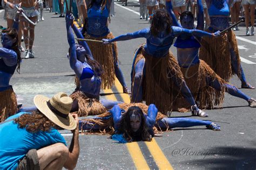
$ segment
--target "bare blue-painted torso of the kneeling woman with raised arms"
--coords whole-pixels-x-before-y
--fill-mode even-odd
[[[87,63],[83,63],[83,69],[90,68],[91,66]],[[89,74],[84,75],[84,74]],[[82,77],[82,80],[81,80]],[[88,77],[84,78],[83,77]],[[85,95],[88,95],[88,97],[92,98],[98,98],[99,92],[100,92],[100,85],[102,84],[102,80],[97,75],[92,75],[90,72],[83,72],[83,74],[80,76],[80,90],[85,93]]]

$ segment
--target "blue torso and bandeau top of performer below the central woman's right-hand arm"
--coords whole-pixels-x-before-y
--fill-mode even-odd
[[[200,38],[198,38],[200,40]],[[174,43],[177,47],[177,58],[179,65],[188,67],[199,63],[199,42],[193,36],[179,36]]]

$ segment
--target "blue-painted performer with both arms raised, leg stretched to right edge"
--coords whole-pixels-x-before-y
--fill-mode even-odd
[[[198,30],[204,30],[204,9],[200,0],[198,3]],[[176,20],[172,11],[171,2],[166,2],[173,25],[185,29],[194,29],[194,16],[192,12],[181,13],[180,23]],[[181,35],[177,38],[174,46],[177,47],[177,58],[181,71],[183,72],[188,88],[190,88],[196,103],[200,108],[212,109],[224,101],[224,92],[243,98],[250,107],[256,107],[256,101],[242,93],[237,87],[228,84],[221,79],[203,60],[199,60],[200,36]],[[177,100],[176,104],[186,107],[187,103]]]

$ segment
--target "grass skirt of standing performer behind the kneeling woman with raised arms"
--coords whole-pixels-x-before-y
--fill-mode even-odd
[[[110,32],[104,37],[92,37],[89,34],[85,34],[85,39],[102,40],[113,39],[114,36]],[[116,53],[116,60],[118,56],[117,42],[114,44],[104,45],[100,42],[86,41],[89,45],[93,58],[102,65],[104,73],[102,74],[102,89],[110,89],[114,84],[114,54]]]

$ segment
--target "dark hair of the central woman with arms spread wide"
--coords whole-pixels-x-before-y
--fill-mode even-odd
[[[153,36],[158,36],[160,31],[169,34],[171,32],[172,18],[165,9],[159,9],[154,12],[150,26],[150,32]]]

